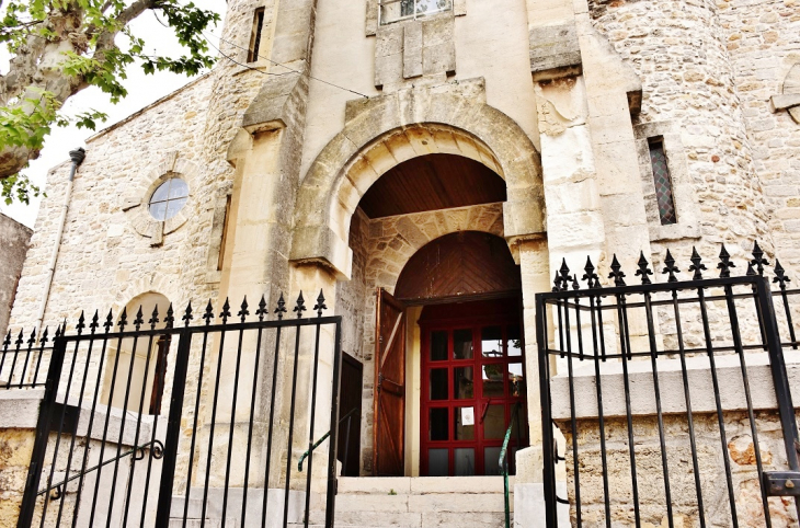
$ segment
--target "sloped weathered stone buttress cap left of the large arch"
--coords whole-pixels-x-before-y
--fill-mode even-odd
[[[299,73],[271,77],[261,87],[242,117],[242,127],[250,134],[284,128],[289,120],[286,113],[292,93],[300,82]]]

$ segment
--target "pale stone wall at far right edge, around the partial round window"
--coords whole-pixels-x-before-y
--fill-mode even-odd
[[[800,124],[769,105],[790,68],[800,70],[800,3],[732,0],[718,9],[775,254],[784,267],[800,269]]]

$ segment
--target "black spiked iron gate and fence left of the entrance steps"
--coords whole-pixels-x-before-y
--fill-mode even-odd
[[[52,348],[47,332],[7,337],[0,388],[45,389],[18,526],[308,526],[315,508],[333,526],[341,318],[325,309],[321,292],[310,318],[302,295],[286,319],[283,296],[272,319],[263,298],[252,317],[247,299],[236,318],[209,302],[193,325],[190,303],[182,321],[81,314]]]

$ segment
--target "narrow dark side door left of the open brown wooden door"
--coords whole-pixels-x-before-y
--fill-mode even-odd
[[[342,388],[339,395],[339,450],[342,477],[358,477],[361,464],[362,395],[364,366],[348,354],[342,354]],[[347,420],[342,420],[348,416]]]

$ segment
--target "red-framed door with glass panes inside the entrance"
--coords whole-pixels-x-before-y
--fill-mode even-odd
[[[512,473],[514,452],[527,445],[518,317],[477,311],[420,323],[423,475],[500,474],[500,450],[517,403],[508,449]]]

